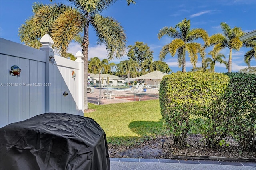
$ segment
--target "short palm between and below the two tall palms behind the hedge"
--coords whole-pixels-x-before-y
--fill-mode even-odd
[[[205,61],[204,61],[206,63],[206,65],[210,65],[210,71],[212,71],[212,72],[215,72],[216,62],[219,62],[221,64],[225,64],[226,68],[228,68],[227,61],[224,61],[222,59],[222,57],[226,58],[225,55],[220,54],[219,52],[220,52],[220,47],[218,47],[218,45],[215,45],[214,49],[208,53],[209,55],[212,56],[212,58],[206,58]]]

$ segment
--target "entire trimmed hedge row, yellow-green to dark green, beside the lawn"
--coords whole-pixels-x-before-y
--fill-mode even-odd
[[[172,73],[160,85],[160,107],[174,143],[182,146],[192,127],[208,147],[228,135],[244,150],[255,149],[256,75],[244,73]]]

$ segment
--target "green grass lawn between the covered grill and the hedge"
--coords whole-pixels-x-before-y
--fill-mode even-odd
[[[164,135],[159,100],[109,105],[89,104],[96,111],[84,113],[105,131],[108,143],[132,145],[148,138]]]

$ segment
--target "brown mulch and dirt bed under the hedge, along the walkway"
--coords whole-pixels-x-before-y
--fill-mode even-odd
[[[108,151],[111,158],[161,158],[171,159],[172,155],[184,156],[218,156],[227,158],[256,158],[256,152],[242,152],[232,137],[226,138],[229,146],[218,148],[207,148],[201,135],[189,135],[184,142],[184,147],[179,148],[173,145],[171,138],[164,138],[165,144],[162,148],[161,139],[144,141],[140,145],[127,147],[108,144]],[[170,151],[170,148],[172,152]]]

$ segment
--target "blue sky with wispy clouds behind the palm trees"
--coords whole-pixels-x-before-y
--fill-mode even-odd
[[[50,4],[50,0],[0,0],[0,37],[17,43],[20,42],[18,37],[18,28],[24,24],[26,19],[32,16],[32,3],[42,2]],[[65,3],[67,0],[53,0],[52,3]],[[226,22],[231,28],[235,26],[242,28],[244,32],[250,32],[256,29],[256,1],[255,0],[137,0],[136,4],[127,6],[125,0],[119,0],[114,3],[102,15],[111,16],[118,20],[124,27],[127,36],[127,46],[134,45],[136,41],[146,43],[154,51],[154,61],[159,60],[158,55],[162,47],[172,41],[168,36],[160,40],[157,34],[165,26],[174,27],[184,20],[190,20],[191,28],[203,28],[209,36],[222,33],[220,28],[221,22]],[[107,58],[104,45],[97,45],[97,37],[92,27],[89,28],[89,53],[88,58],[98,57]],[[201,42],[202,40],[198,40]],[[69,53],[80,50],[80,45],[71,43],[68,48]],[[210,52],[212,47],[206,49]],[[240,51],[232,52],[232,72],[247,67],[243,57],[249,48],[241,48]],[[128,51],[128,50],[127,50]],[[226,56],[228,61],[229,50],[224,49],[220,53]],[[206,57],[210,57],[207,55]],[[122,59],[109,61],[119,63],[128,59],[125,55]],[[192,69],[192,65],[186,57],[186,71]],[[166,55],[164,61],[169,65],[173,72],[182,71],[178,67],[177,56]],[[201,59],[198,57],[197,66],[201,65]],[[252,60],[251,66],[256,67],[255,59]],[[224,65],[216,64],[216,72],[227,72]]]

